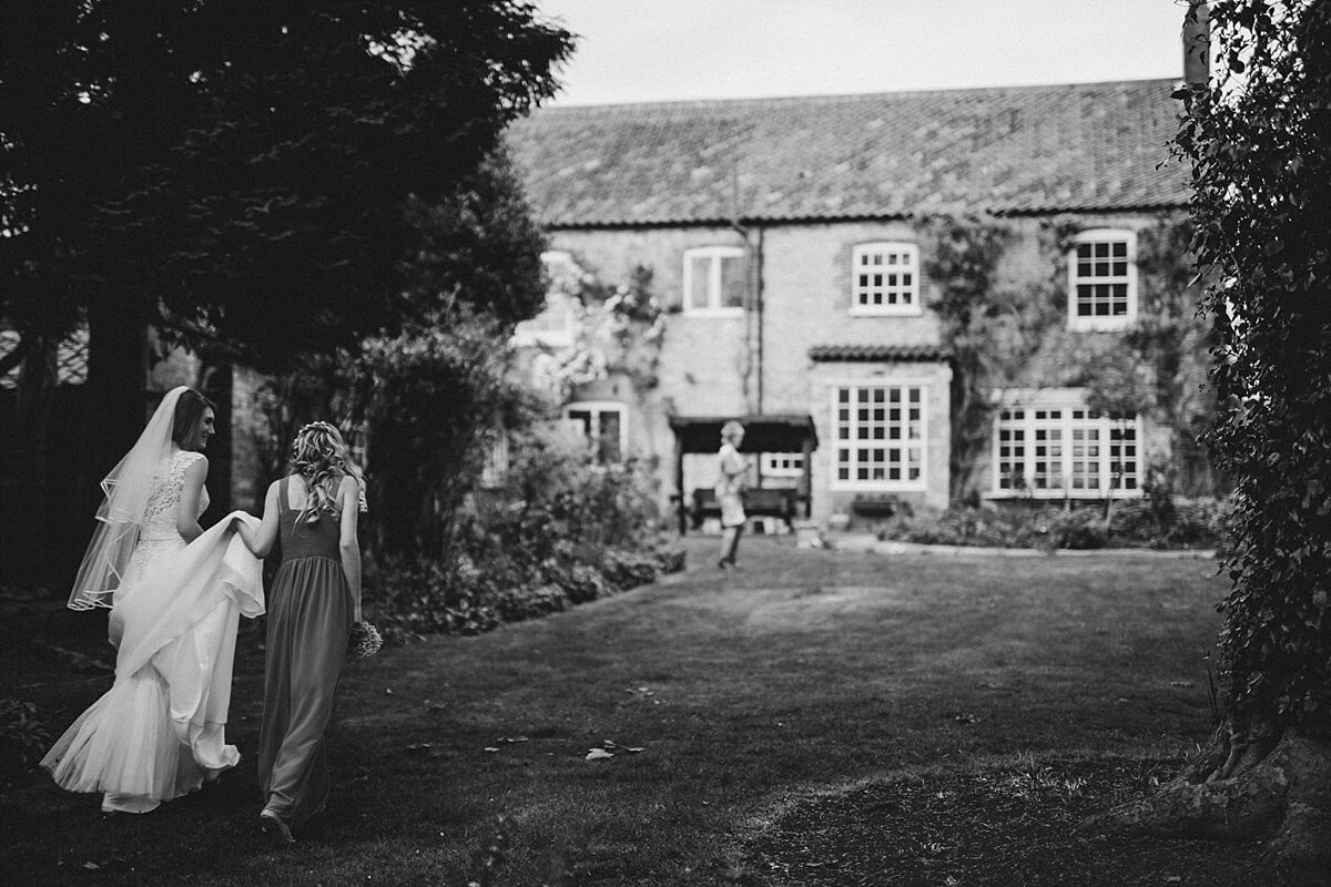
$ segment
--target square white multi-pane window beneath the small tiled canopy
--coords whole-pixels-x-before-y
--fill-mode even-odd
[[[924,489],[922,383],[856,382],[832,390],[833,489]]]

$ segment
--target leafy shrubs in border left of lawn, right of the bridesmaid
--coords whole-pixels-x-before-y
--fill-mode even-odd
[[[389,557],[367,569],[367,610],[385,640],[475,634],[655,581],[683,567],[663,544],[644,467],[596,464],[580,442],[524,435],[502,487],[453,521],[441,559]]]

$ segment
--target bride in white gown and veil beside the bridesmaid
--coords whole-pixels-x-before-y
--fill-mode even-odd
[[[60,737],[41,766],[69,791],[104,793],[102,810],[148,813],[240,761],[226,745],[240,614],[264,612],[261,564],[233,512],[209,531],[213,404],[166,394],[133,449],[102,481],[106,499],[69,606],[110,608],[116,682]]]

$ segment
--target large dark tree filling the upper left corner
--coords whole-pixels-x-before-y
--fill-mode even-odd
[[[391,335],[419,207],[570,45],[522,0],[7,3],[0,315],[24,348],[87,318],[108,453],[146,323],[262,368]]]

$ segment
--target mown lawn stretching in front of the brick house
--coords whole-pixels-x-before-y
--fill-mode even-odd
[[[290,850],[256,822],[262,652],[248,628],[238,771],[146,817],[29,783],[0,795],[0,866],[16,884],[787,883],[753,848],[811,799],[996,767],[982,782],[1008,801],[1093,806],[1095,774],[1042,762],[1155,773],[1211,730],[1214,563],[747,540],[747,568],[723,574],[699,567],[713,540],[689,544],[695,567],[658,585],[350,666],[330,810]],[[0,696],[36,701],[59,731],[109,677],[20,634],[100,650],[49,606],[9,622]],[[594,747],[614,757],[587,761]]]

